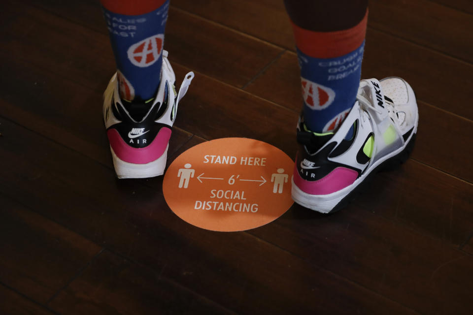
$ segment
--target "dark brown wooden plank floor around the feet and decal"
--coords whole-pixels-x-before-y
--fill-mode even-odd
[[[473,314],[472,1],[371,1],[362,76],[414,88],[411,158],[334,215],[237,233],[176,217],[162,177],[115,178],[97,0],[2,1],[0,21],[0,314]],[[281,0],[171,0],[165,48],[196,73],[169,161],[232,136],[294,158]]]

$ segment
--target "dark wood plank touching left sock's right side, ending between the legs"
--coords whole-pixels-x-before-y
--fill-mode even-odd
[[[165,38],[166,49],[172,52],[170,61],[237,87],[243,87],[283,51],[172,8],[168,21]]]

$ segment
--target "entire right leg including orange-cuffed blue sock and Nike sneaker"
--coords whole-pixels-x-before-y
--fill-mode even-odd
[[[401,78],[360,82],[367,0],[285,4],[304,95],[292,197],[309,209],[334,212],[383,164],[407,158],[417,130],[417,103]]]

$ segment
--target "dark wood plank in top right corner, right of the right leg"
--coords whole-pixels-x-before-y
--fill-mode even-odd
[[[368,23],[376,30],[473,62],[472,14],[429,0],[378,0],[370,2]]]

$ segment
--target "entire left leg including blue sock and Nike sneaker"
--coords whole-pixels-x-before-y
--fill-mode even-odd
[[[101,0],[117,72],[103,94],[103,119],[118,178],[164,173],[180,99],[194,77],[177,90],[163,50],[169,0]],[[181,177],[183,185],[188,184]],[[180,183],[180,184],[182,184]]]

